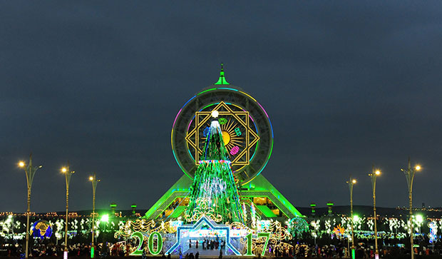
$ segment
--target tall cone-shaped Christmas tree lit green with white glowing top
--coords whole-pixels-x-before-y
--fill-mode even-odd
[[[223,223],[243,221],[230,157],[222,141],[217,116],[218,112],[213,111],[214,120],[207,132],[204,154],[190,187],[190,203],[185,213],[187,221],[195,221],[202,215]]]

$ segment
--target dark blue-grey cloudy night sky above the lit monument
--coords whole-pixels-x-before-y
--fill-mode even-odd
[[[274,130],[262,172],[293,205],[441,206],[441,1],[1,1],[0,211],[150,208],[183,172],[170,131],[183,104],[227,81]]]

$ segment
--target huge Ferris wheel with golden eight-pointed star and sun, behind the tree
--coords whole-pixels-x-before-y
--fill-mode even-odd
[[[223,75],[222,72],[225,82]],[[227,82],[202,89],[178,111],[171,133],[173,156],[181,170],[193,178],[215,110],[232,173],[238,184],[245,185],[269,161],[273,148],[272,123],[255,98]]]

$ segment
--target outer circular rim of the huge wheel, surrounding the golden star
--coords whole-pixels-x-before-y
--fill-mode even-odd
[[[189,177],[193,178],[197,163],[187,146],[186,136],[190,123],[195,118],[196,111],[205,111],[207,107],[214,106],[220,101],[228,103],[230,106],[242,108],[249,112],[254,129],[259,136],[259,141],[252,149],[250,163],[235,171],[235,176],[241,179],[241,184],[245,185],[261,173],[269,161],[273,148],[273,128],[267,112],[261,104],[248,93],[241,91],[232,85],[229,87],[210,86],[189,99],[178,111],[173,121],[171,144],[175,160],[181,170]]]

